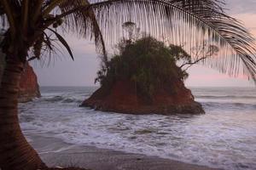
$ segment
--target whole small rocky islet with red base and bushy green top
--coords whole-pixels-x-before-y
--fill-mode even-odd
[[[153,37],[119,43],[119,54],[98,72],[101,88],[81,106],[129,114],[203,114],[191,91],[184,86],[188,73],[177,60],[189,60],[181,47]]]

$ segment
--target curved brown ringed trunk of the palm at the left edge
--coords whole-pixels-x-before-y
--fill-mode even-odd
[[[20,129],[18,93],[23,62],[9,59],[0,87],[0,167],[2,170],[36,170],[44,167],[36,150]]]

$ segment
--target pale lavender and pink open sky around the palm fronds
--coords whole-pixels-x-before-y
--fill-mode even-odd
[[[226,0],[227,13],[235,17],[256,37],[256,0]],[[73,61],[63,49],[63,54],[51,59],[49,65],[32,61],[38,75],[40,86],[97,86],[94,83],[96,71],[100,69],[100,59],[96,54],[94,42],[89,42],[74,35],[66,36],[73,50]],[[189,70],[185,82],[189,87],[254,87],[245,77],[232,78],[194,65]]]

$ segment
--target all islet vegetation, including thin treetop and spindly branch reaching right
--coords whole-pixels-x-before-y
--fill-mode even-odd
[[[136,23],[127,21],[123,29],[126,38],[124,36],[116,45],[117,50],[106,64],[107,67],[97,72],[95,82],[100,82],[107,91],[116,82],[128,80],[134,84],[137,94],[149,101],[160,88],[168,88],[167,92],[176,94],[175,83],[189,77],[189,67],[218,54],[218,47],[203,44],[193,48],[197,59],[192,61],[191,55],[182,46],[161,42],[141,33]]]

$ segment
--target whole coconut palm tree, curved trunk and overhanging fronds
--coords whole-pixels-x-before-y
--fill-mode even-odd
[[[188,48],[206,41],[218,44],[221,57],[205,59],[203,64],[236,75],[241,61],[247,77],[256,80],[254,39],[221,5],[221,0],[1,0],[0,23],[7,31],[1,44],[6,69],[0,88],[0,167],[45,167],[20,130],[18,82],[26,61],[42,59],[45,51],[51,54],[56,40],[73,58],[58,33],[61,29],[94,39],[103,65],[107,65],[103,37],[114,42],[122,23],[132,20],[143,31],[168,37],[173,43],[187,42]]]

